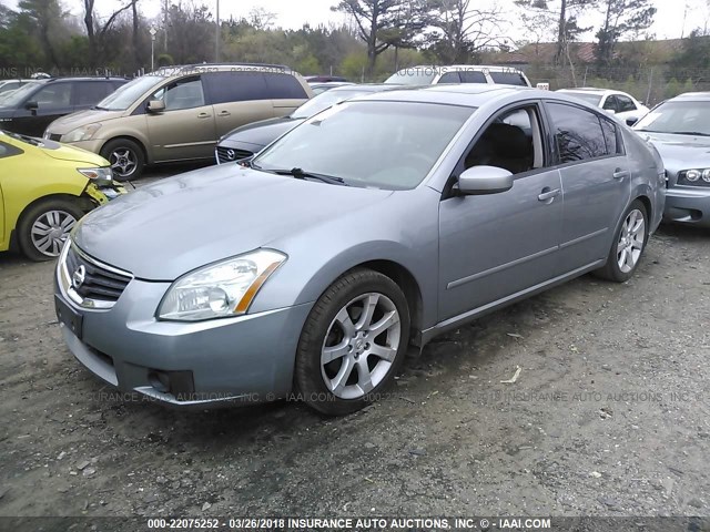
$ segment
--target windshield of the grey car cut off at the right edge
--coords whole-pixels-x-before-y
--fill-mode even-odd
[[[637,131],[710,135],[710,101],[661,103],[633,127]]]

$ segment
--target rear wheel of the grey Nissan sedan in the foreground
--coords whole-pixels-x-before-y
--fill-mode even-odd
[[[596,274],[616,283],[629,280],[643,255],[648,237],[646,206],[640,200],[635,200],[623,214],[623,222],[613,237],[607,264]]]

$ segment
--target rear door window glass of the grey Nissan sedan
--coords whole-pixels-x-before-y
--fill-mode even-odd
[[[607,141],[595,113],[561,103],[548,103],[547,109],[560,164],[607,155]]]

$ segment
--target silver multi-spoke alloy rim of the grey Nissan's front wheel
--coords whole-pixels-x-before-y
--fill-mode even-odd
[[[397,307],[384,294],[363,294],[346,304],[328,327],[321,374],[341,399],[361,399],[387,376],[402,337]]]

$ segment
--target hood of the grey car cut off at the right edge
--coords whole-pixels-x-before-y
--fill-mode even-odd
[[[710,136],[676,135],[637,131],[661,154],[669,173],[688,168],[710,168]]]

